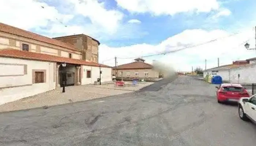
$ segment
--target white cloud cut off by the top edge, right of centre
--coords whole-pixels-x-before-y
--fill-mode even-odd
[[[181,12],[210,12],[220,7],[217,0],[115,0],[130,12],[174,15]]]

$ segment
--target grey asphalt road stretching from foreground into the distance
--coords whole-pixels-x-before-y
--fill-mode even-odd
[[[0,146],[255,146],[256,126],[215,86],[179,77],[128,93],[0,114]]]

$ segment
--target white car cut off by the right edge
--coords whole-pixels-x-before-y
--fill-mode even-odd
[[[244,120],[251,120],[256,124],[256,94],[251,97],[242,97],[238,103],[238,115]]]

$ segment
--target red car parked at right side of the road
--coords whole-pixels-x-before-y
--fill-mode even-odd
[[[241,97],[250,97],[247,90],[240,84],[221,84],[216,87],[218,103],[225,101],[238,102]]]

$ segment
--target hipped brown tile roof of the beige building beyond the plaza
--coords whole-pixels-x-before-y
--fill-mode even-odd
[[[129,64],[123,64],[117,66],[117,69],[152,69],[153,65],[147,64],[145,62],[132,62]],[[115,67],[113,67],[115,69]]]

